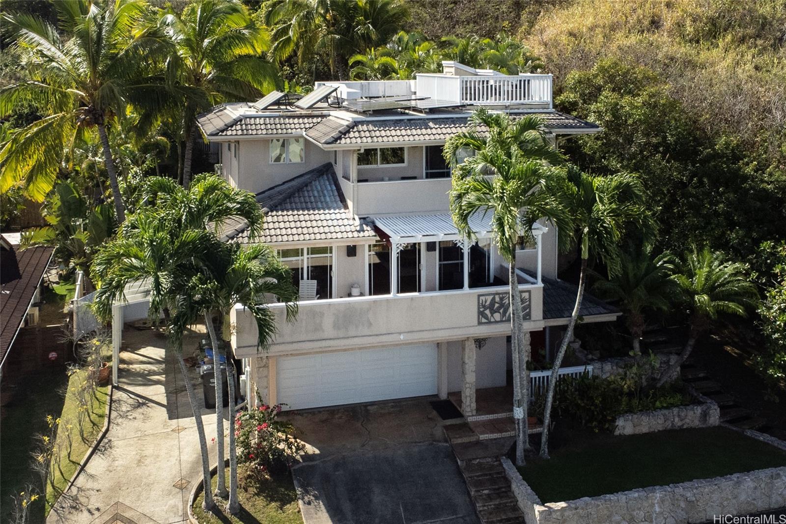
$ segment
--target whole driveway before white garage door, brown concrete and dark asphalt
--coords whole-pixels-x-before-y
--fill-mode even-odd
[[[305,524],[479,522],[433,398],[286,413]]]

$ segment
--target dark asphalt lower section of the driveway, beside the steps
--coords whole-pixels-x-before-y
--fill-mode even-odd
[[[479,524],[444,443],[336,454],[293,474],[305,524]]]

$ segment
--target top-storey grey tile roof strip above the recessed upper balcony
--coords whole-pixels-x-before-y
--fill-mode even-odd
[[[538,115],[544,120],[545,127],[559,130],[598,130],[599,126],[565,113],[527,113]],[[320,124],[306,131],[312,140],[324,145],[368,144],[384,142],[416,142],[424,140],[446,140],[451,135],[469,128],[468,116],[453,118],[413,117],[396,120],[355,120],[347,123],[330,116]],[[479,127],[479,131],[486,131]]]

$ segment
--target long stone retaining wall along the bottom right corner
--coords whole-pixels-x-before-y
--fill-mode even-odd
[[[747,515],[786,506],[786,467],[549,504],[538,504],[522,495],[532,490],[515,468],[509,473],[505,467],[505,473],[517,478],[511,479],[511,485],[519,486],[513,493],[526,524],[712,522],[715,515]]]

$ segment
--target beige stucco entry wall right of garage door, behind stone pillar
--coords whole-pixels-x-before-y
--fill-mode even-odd
[[[496,388],[505,386],[505,337],[488,338],[483,349],[476,351],[475,379],[476,388]],[[461,341],[450,341],[447,345],[447,390],[460,391]]]

